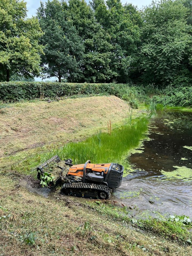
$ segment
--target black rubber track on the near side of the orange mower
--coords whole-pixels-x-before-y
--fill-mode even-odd
[[[100,196],[101,192],[107,194],[106,198]],[[66,195],[72,195],[76,197],[84,198],[93,198],[93,199],[109,199],[111,196],[111,189],[105,185],[83,183],[83,182],[74,182],[74,183],[65,183],[61,188],[61,193]]]

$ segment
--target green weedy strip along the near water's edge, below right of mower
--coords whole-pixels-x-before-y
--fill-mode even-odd
[[[113,203],[113,202],[112,202]],[[155,234],[161,235],[165,238],[177,240],[178,242],[185,242],[190,244],[192,239],[189,230],[192,227],[191,222],[186,225],[181,221],[175,221],[175,218],[179,220],[184,219],[186,216],[175,216],[175,218],[156,219],[149,217],[148,219],[134,219],[128,216],[129,209],[127,207],[118,207],[111,203],[102,203],[102,201],[88,201],[87,204],[97,211],[99,215],[107,219],[116,220],[119,222],[130,223],[140,229],[152,231]],[[173,217],[173,216],[172,216]],[[188,217],[187,217],[188,218]]]

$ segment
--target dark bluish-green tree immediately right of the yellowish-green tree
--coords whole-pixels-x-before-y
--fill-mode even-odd
[[[81,62],[84,47],[72,21],[67,17],[67,3],[58,0],[41,2],[37,17],[45,33],[42,66],[46,77],[78,81],[82,77]]]

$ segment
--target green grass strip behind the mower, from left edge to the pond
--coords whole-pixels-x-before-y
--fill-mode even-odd
[[[7,169],[21,174],[36,176],[33,169],[40,163],[45,162],[57,154],[64,160],[71,158],[74,164],[84,163],[91,160],[92,163],[118,162],[128,167],[127,153],[130,149],[138,146],[147,130],[148,117],[132,119],[132,113],[124,119],[123,123],[113,124],[113,129],[108,133],[97,131],[97,133],[82,142],[69,142],[63,147],[54,146],[38,147],[29,151],[21,151],[16,155],[2,158],[1,169]],[[33,151],[31,153],[31,151]],[[11,166],[10,166],[11,163]]]

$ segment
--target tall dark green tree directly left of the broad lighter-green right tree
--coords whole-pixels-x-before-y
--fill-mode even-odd
[[[120,0],[93,0],[91,6],[102,28],[110,36],[110,69],[118,82],[126,83],[137,72],[138,51],[141,44],[141,15],[131,4]]]

